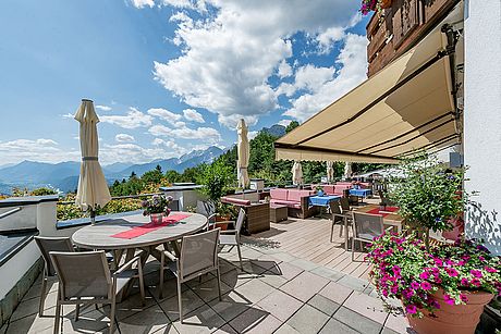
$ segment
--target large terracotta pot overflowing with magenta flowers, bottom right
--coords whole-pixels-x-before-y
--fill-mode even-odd
[[[500,258],[477,240],[427,247],[415,234],[383,234],[367,255],[369,276],[390,310],[400,299],[417,333],[473,334],[493,295],[501,294]]]

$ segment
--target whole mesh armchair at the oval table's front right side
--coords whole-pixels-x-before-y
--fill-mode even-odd
[[[178,280],[178,302],[180,321],[183,322],[181,284],[211,271],[217,271],[219,300],[221,300],[221,277],[219,274],[218,239],[219,228],[183,237],[180,257],[168,250],[160,258],[160,298],[163,298],[163,272],[169,269]],[[166,262],[166,258],[170,261]]]

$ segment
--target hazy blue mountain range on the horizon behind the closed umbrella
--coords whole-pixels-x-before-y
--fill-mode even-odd
[[[174,170],[182,173],[187,168],[211,162],[224,152],[223,149],[211,146],[205,150],[194,150],[180,158],[158,159],[148,163],[133,164],[117,162],[102,166],[105,177],[109,183],[126,178],[132,172],[142,175],[159,164],[163,171]],[[52,187],[61,191],[72,191],[78,184],[80,162],[65,161],[47,163],[23,161],[14,165],[0,168],[0,194],[10,194],[12,187],[37,188]]]

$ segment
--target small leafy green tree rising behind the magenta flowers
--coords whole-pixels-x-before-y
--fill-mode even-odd
[[[461,191],[463,170],[451,171],[436,157],[419,154],[404,161],[389,186],[390,199],[400,208],[399,214],[424,233],[429,248],[430,230],[449,231],[449,220],[463,212],[466,194]]]

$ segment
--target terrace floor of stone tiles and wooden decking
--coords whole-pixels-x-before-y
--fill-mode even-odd
[[[160,289],[160,263],[150,257],[144,267],[145,305],[135,281],[129,297],[117,304],[117,331],[407,333],[405,317],[389,316],[377,299],[367,281],[369,265],[363,262],[364,255],[356,252],[354,262],[350,252],[344,251],[344,238],[337,237],[341,227],[335,226],[334,239],[330,242],[328,219],[272,223],[268,232],[242,237],[242,268],[236,247],[223,248],[219,252],[221,300],[216,271],[200,279],[181,280],[181,295],[178,295],[178,277],[166,270],[163,289]],[[188,253],[186,249],[184,255]],[[183,261],[183,250],[180,261]],[[53,277],[48,281],[44,317],[38,314],[41,282],[41,277],[36,281],[2,330],[53,332],[58,281]],[[78,313],[75,320],[75,306],[62,305],[63,333],[108,332],[109,306],[99,305],[96,309],[86,305]]]

